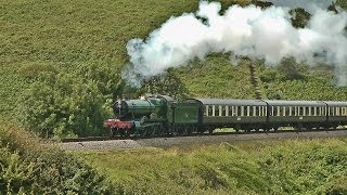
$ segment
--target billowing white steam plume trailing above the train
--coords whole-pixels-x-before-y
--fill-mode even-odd
[[[346,12],[335,14],[317,8],[308,25],[297,29],[292,26],[287,8],[233,5],[223,15],[220,9],[218,2],[201,1],[195,14],[169,18],[146,40],[130,40],[130,64],[123,78],[139,86],[141,80],[164,74],[167,68],[220,52],[264,58],[270,65],[285,56],[329,63],[336,66],[340,82],[346,83]]]

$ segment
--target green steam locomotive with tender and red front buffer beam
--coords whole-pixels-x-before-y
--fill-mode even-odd
[[[116,118],[104,121],[112,135],[155,136],[189,134],[197,130],[200,108],[196,101],[175,101],[167,95],[117,101]]]

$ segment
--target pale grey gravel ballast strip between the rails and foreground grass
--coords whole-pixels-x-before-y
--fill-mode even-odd
[[[177,145],[211,144],[211,143],[222,143],[222,142],[267,140],[267,139],[316,139],[316,138],[337,138],[337,136],[347,136],[347,130],[69,142],[69,143],[60,143],[60,147],[66,151],[124,150],[124,148],[139,148],[139,147],[170,147],[170,146],[177,146]]]

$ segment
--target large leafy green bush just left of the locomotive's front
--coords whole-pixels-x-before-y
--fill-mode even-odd
[[[16,107],[17,121],[48,138],[100,135],[103,119],[111,116],[110,102],[101,91],[99,82],[88,77],[40,74],[37,81],[23,91]]]

